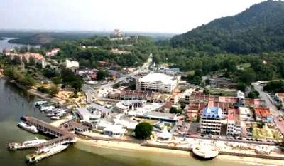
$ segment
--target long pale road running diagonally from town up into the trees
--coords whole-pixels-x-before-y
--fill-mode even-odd
[[[144,63],[143,66],[138,68],[136,71],[133,71],[133,73],[127,74],[126,76],[123,76],[121,78],[118,78],[116,81],[109,81],[109,83],[101,85],[99,87],[99,89],[102,90],[102,89],[106,89],[106,88],[112,88],[112,85],[114,85],[115,83],[119,83],[120,81],[126,80],[126,78],[128,78],[128,77],[133,77],[133,76],[137,75],[138,73],[143,71],[144,68],[148,68],[151,64],[152,64],[152,53],[150,53],[148,61],[146,63]],[[90,85],[83,84],[82,85],[82,90],[86,94],[87,102],[91,103],[92,96],[93,96],[92,92],[94,91],[94,89]],[[96,93],[96,92],[94,92],[94,93]],[[96,95],[94,95],[94,97],[96,97]]]

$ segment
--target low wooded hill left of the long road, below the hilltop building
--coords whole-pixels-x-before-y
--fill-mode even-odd
[[[62,61],[65,58],[75,59],[80,62],[81,68],[97,68],[98,61],[108,61],[119,66],[141,66],[155,48],[151,38],[143,36],[131,36],[124,40],[94,36],[75,41],[46,43],[42,46],[45,50],[55,47],[62,49],[55,57],[56,59]],[[109,52],[112,49],[129,51],[129,53]]]

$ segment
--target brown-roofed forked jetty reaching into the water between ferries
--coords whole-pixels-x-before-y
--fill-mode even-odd
[[[34,125],[41,132],[57,137],[53,140],[48,140],[48,142],[43,142],[36,145],[35,148],[37,150],[42,150],[48,147],[52,147],[54,145],[75,143],[77,141],[75,130],[79,131],[87,130],[87,126],[75,122],[72,122],[72,125],[70,125],[70,127],[68,127],[67,129],[61,129],[34,117],[26,116],[25,118],[26,118],[26,123],[28,125]],[[74,133],[70,133],[69,131]]]

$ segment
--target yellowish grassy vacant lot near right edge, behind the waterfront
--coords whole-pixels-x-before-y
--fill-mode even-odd
[[[253,138],[258,139],[267,139],[267,140],[281,140],[282,138],[278,134],[278,130],[276,128],[271,128],[263,126],[263,128],[258,128],[256,123],[253,123]]]

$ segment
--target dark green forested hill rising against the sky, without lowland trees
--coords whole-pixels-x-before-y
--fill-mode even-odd
[[[284,48],[284,2],[263,1],[235,16],[174,36],[173,48],[210,53],[261,53]]]

